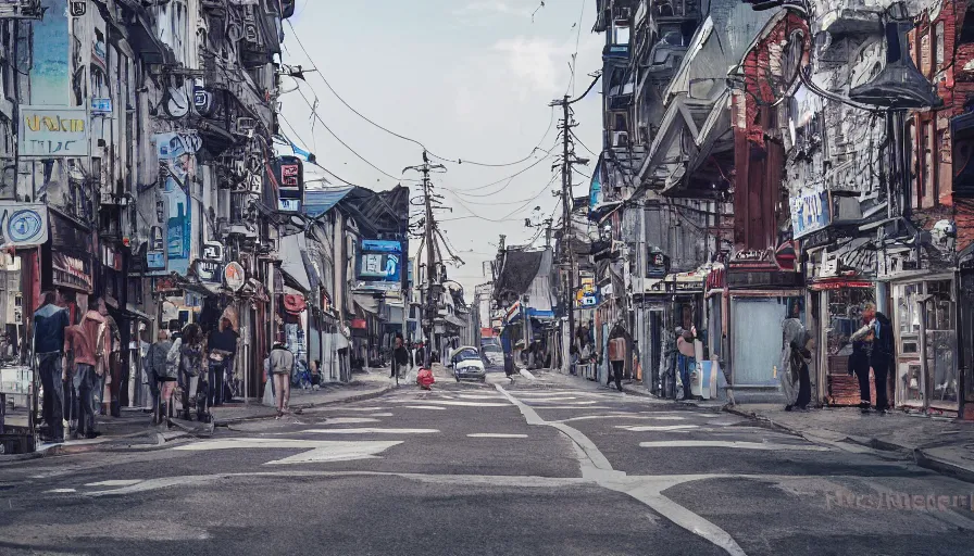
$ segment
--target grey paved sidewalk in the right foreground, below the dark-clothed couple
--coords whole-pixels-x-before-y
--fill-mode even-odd
[[[729,413],[764,421],[853,452],[913,459],[919,466],[974,482],[974,424],[908,415],[862,415],[854,407],[786,412],[781,404],[744,404]],[[857,450],[858,448],[858,450]]]

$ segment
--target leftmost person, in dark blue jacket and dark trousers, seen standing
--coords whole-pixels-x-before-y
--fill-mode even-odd
[[[64,329],[67,311],[58,306],[58,294],[45,292],[43,305],[34,313],[34,353],[43,386],[43,421],[48,442],[64,441]]]

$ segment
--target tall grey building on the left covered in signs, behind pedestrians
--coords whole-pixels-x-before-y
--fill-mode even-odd
[[[122,404],[145,402],[139,341],[173,321],[230,317],[240,395],[259,394],[272,341],[295,337],[307,353],[301,314],[317,282],[283,256],[307,228],[301,161],[273,141],[294,11],[291,0],[0,3],[0,207],[13,230],[0,243],[24,307],[4,325],[22,361],[43,290],[72,321],[105,301],[130,389]]]

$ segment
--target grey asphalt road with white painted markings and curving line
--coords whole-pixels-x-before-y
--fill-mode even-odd
[[[729,414],[491,374],[0,465],[0,554],[958,555],[972,501]]]

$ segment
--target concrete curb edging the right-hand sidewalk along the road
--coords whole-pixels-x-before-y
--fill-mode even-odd
[[[909,458],[909,459],[912,459],[913,463],[916,464],[919,467],[922,467],[924,469],[929,469],[932,471],[936,471],[940,475],[952,477],[954,479],[958,479],[958,480],[961,480],[964,482],[974,483],[974,468],[970,468],[970,467],[957,464],[954,462],[948,462],[946,459],[933,456],[933,455],[924,452],[922,447],[911,448],[909,446],[903,446],[903,445],[897,444],[895,442],[889,442],[889,441],[882,440],[882,439],[856,438],[856,437],[848,437],[848,435],[845,437],[844,440],[840,442],[834,442],[834,441],[831,441],[827,439],[822,439],[822,438],[815,437],[814,434],[810,434],[810,433],[808,433],[806,431],[801,431],[797,428],[782,425],[779,422],[776,422],[776,421],[770,419],[769,417],[758,415],[753,412],[744,412],[744,410],[737,409],[735,407],[729,407],[729,406],[725,407],[724,412],[730,413],[734,415],[739,415],[741,417],[747,417],[749,419],[753,419],[759,422],[767,424],[770,427],[772,427],[774,429],[777,429],[777,430],[781,430],[784,432],[788,432],[790,434],[796,434],[798,437],[801,437],[801,438],[808,440],[809,442],[814,442],[817,444],[825,444],[825,445],[829,445],[829,446],[837,447],[840,450],[846,450],[846,451],[850,451],[850,450],[848,450],[846,446],[842,446],[841,445],[842,443],[853,445],[853,446],[861,446],[860,450],[853,450],[851,452],[867,453],[870,455],[874,455],[874,456],[881,457],[883,459]],[[890,457],[890,455],[892,455],[892,454],[897,454],[899,457],[897,457],[897,456]]]

